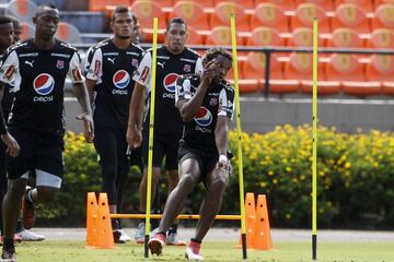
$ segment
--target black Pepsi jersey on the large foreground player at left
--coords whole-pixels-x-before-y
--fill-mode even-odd
[[[14,84],[8,126],[61,136],[67,75],[83,82],[78,51],[68,44],[56,39],[53,49],[42,50],[28,39],[11,47],[0,69],[0,81]]]

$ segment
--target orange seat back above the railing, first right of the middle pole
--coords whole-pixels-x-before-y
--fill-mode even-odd
[[[259,26],[252,31],[252,35],[246,39],[246,46],[286,46],[286,43],[276,29]]]

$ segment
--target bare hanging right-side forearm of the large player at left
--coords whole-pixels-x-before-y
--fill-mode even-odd
[[[78,120],[83,121],[84,136],[88,142],[93,142],[94,138],[94,128],[92,119],[92,109],[89,102],[88,91],[84,83],[74,83],[72,84],[74,95],[82,107],[82,114],[76,116]]]

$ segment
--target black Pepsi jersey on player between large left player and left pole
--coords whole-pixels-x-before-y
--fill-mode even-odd
[[[96,81],[93,98],[95,127],[126,128],[128,108],[135,86],[131,79],[142,59],[143,50],[131,44],[117,48],[107,39],[92,49],[85,64],[86,79]]]

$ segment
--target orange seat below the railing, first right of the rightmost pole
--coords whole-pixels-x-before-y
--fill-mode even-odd
[[[340,81],[345,94],[355,96],[379,95],[379,82],[366,82],[364,67],[356,56],[334,53],[326,66],[326,78]]]

